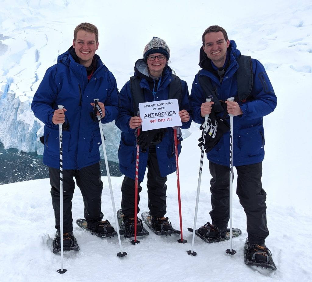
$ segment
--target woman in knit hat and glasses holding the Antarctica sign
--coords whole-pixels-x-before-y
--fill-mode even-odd
[[[134,77],[120,91],[119,116],[116,125],[121,130],[118,150],[119,169],[125,175],[121,191],[121,209],[124,214],[126,232],[134,234],[134,194],[137,129],[142,119],[137,116],[139,102],[152,102],[177,97],[181,128],[190,127],[191,106],[188,86],[173,74],[168,66],[170,50],[166,42],[160,38],[153,39],[145,46],[143,58],[134,65]],[[176,96],[175,96],[176,95]],[[181,136],[178,137],[178,152],[181,151]],[[149,213],[156,230],[171,231],[172,226],[166,214],[167,175],[176,171],[174,154],[173,128],[161,128],[142,131],[138,137],[139,175],[138,183],[143,181],[146,168],[147,189],[149,197]],[[156,145],[157,144],[157,145]],[[142,190],[138,185],[138,192]],[[139,205],[138,195],[138,205]],[[139,212],[139,208],[138,208]],[[142,231],[142,220],[137,219],[137,234]]]

